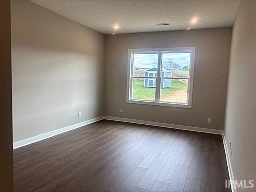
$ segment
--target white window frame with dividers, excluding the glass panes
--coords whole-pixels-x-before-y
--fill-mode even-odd
[[[135,104],[147,104],[147,105],[158,105],[158,106],[170,106],[170,107],[181,107],[181,108],[192,108],[192,94],[193,94],[193,79],[194,79],[194,62],[195,62],[195,47],[174,47],[174,48],[146,48],[146,49],[128,49],[128,68],[127,68],[127,92],[126,102]],[[160,101],[161,91],[161,79],[160,72],[162,68],[162,54],[163,53],[190,53],[190,67],[188,78],[177,78],[168,77],[168,79],[187,79],[188,80],[188,91],[187,91],[187,102],[163,102]],[[133,78],[146,78],[146,77],[132,77],[133,72],[133,55],[138,53],[158,53],[158,72],[156,77],[156,95],[155,100],[140,100],[132,99],[132,79]],[[166,77],[167,78],[167,77]]]

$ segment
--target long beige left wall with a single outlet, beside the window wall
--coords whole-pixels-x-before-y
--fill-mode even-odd
[[[11,10],[14,142],[102,116],[104,35],[28,0]]]

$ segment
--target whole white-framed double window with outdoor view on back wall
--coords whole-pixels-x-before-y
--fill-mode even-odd
[[[128,50],[126,102],[191,108],[195,47]]]

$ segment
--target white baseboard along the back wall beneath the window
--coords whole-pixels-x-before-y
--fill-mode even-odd
[[[106,120],[122,121],[122,122],[129,122],[129,123],[136,123],[136,124],[143,124],[143,125],[152,125],[152,126],[181,129],[181,130],[187,130],[187,131],[196,131],[196,132],[212,133],[212,134],[219,134],[219,135],[223,134],[222,130],[215,130],[215,129],[191,127],[191,126],[184,126],[184,125],[174,125],[174,124],[168,124],[168,123],[159,123],[159,122],[144,121],[144,120],[137,120],[137,119],[112,117],[112,116],[103,116],[103,118]]]

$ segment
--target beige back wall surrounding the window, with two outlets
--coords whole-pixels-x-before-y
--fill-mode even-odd
[[[222,130],[231,33],[215,28],[106,36],[104,115]],[[191,109],[126,103],[128,49],[186,46],[196,47]]]

